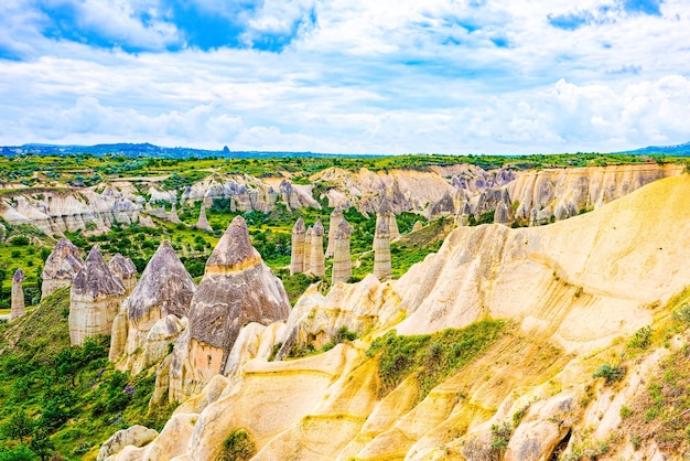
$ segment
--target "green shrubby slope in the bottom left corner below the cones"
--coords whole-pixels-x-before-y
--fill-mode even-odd
[[[62,289],[0,324],[0,459],[94,459],[116,430],[161,429],[172,411],[149,412],[154,375],[115,371],[107,337],[69,345],[68,307]]]

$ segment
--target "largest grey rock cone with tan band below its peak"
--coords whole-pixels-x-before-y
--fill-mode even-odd
[[[289,312],[282,282],[251,246],[245,219],[235,217],[206,261],[192,298],[190,328],[175,343],[170,398],[182,400],[214,375],[225,374],[242,326],[283,321]]]

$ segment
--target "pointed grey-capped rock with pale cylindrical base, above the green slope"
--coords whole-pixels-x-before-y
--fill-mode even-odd
[[[68,320],[72,345],[83,344],[89,336],[110,335],[125,292],[95,245],[72,285]]]

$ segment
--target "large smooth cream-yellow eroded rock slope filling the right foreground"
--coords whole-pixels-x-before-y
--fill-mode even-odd
[[[325,296],[314,287],[284,325],[241,329],[228,377],[214,376],[155,440],[115,459],[213,460],[238,429],[259,460],[537,460],[599,441],[613,458],[673,457],[654,437],[634,448],[619,426],[622,406],[647,393],[644,377],[662,375],[669,352],[640,356],[614,386],[592,374],[621,360],[617,337],[668,315],[662,305],[688,285],[690,247],[678,238],[690,232],[688,196],[690,178],[679,176],[551,226],[459,228],[397,281],[370,276]],[[381,394],[378,358],[366,354],[374,337],[487,318],[510,323],[460,373],[427,395],[416,375]],[[362,339],[267,361],[276,344],[323,343],[343,325]]]

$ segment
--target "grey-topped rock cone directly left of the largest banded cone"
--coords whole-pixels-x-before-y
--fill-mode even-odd
[[[176,323],[168,332],[163,344],[154,344],[151,336],[153,326],[168,315],[177,319],[187,317],[192,297],[196,292],[194,280],[184,268],[182,261],[170,246],[163,242],[149,260],[139,283],[122,304],[118,318],[123,318],[125,342],[122,332],[116,333],[118,319],[112,326],[111,360],[127,354],[126,369],[138,373],[141,369],[163,360],[168,353],[168,343],[173,342],[180,333]],[[118,344],[116,345],[116,337]],[[126,345],[125,345],[126,343]],[[119,353],[117,353],[119,349]]]

